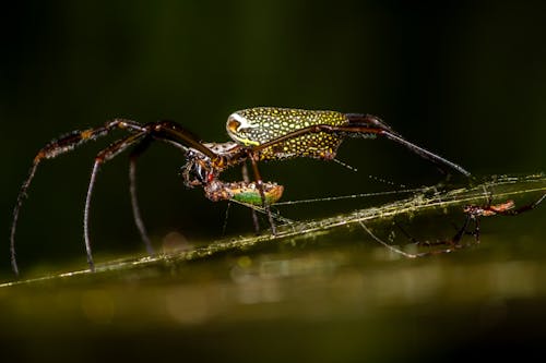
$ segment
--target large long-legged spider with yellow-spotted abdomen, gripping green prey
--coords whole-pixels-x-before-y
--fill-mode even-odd
[[[183,183],[188,187],[201,186],[211,201],[238,201],[245,204],[262,206],[268,214],[272,233],[275,225],[269,206],[277,202],[283,194],[283,186],[274,182],[264,182],[259,161],[283,160],[296,157],[309,157],[322,160],[335,158],[337,148],[345,137],[384,136],[420,157],[430,160],[442,169],[452,169],[465,177],[471,173],[436,154],[432,154],[404,140],[388,124],[371,114],[341,113],[336,111],[313,111],[288,108],[260,107],[232,113],[226,130],[233,140],[225,143],[204,143],[183,126],[171,121],[157,121],[141,124],[126,119],[115,119],[103,126],[73,131],[44,146],[36,157],[19,193],[13,209],[10,249],[13,271],[19,274],[15,255],[15,229],[23,199],[34,178],[38,165],[44,159],[52,159],[73,150],[82,144],[108,135],[114,130],[124,130],[128,136],[114,142],[100,150],[93,164],[90,184],[83,209],[84,242],[90,268],[94,270],[91,250],[88,216],[93,187],[100,166],[130,147],[129,179],[133,217],[147,251],[153,247],[141,218],[136,202],[135,168],[138,157],[153,141],[161,141],[179,148],[186,156],[182,166]],[[224,182],[219,174],[234,166],[250,162],[254,181]]]

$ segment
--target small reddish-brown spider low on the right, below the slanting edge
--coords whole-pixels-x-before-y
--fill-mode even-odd
[[[381,243],[382,245],[387,246],[391,251],[404,255],[410,258],[416,258],[416,257],[425,257],[429,255],[438,255],[438,254],[443,254],[443,253],[451,253],[455,250],[468,247],[472,244],[478,244],[479,243],[479,233],[480,233],[480,228],[479,228],[479,220],[482,217],[491,217],[491,216],[518,216],[524,211],[532,210],[536,208],[544,199],[546,198],[546,194],[543,194],[538,199],[536,199],[533,203],[523,205],[521,207],[515,208],[515,204],[512,199],[508,199],[503,203],[500,204],[492,204],[492,198],[489,197],[487,204],[485,205],[474,205],[474,204],[468,204],[463,207],[463,214],[465,215],[465,220],[462,225],[462,227],[456,231],[456,233],[450,239],[450,240],[440,240],[440,241],[435,241],[435,242],[422,242],[410,235],[402,226],[396,225],[402,233],[414,244],[416,245],[427,245],[427,246],[438,246],[438,245],[446,245],[446,249],[440,249],[440,250],[432,250],[432,251],[427,251],[427,252],[422,252],[422,253],[407,253],[402,250],[399,250],[389,243],[380,240],[377,235],[375,235],[363,222],[360,222],[360,226],[364,228],[364,230],[371,235],[376,241]],[[470,230],[471,223],[474,225],[474,229]],[[470,234],[474,237],[474,243],[461,243],[462,239],[464,235]]]

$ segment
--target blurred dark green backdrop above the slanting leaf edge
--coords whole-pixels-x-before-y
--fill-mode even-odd
[[[544,170],[545,13],[543,1],[4,5],[1,267],[9,269],[12,207],[35,153],[68,131],[115,117],[170,119],[205,141],[223,142],[227,116],[241,108],[368,112],[477,176]],[[88,173],[94,155],[116,135],[38,169],[19,223],[22,268],[68,256],[84,261]],[[339,157],[358,172],[333,162],[292,160],[264,165],[262,173],[286,186],[285,199],[392,189],[370,174],[407,186],[443,178],[388,141],[352,140]],[[201,190],[186,190],[178,174],[183,161],[176,149],[157,145],[140,162],[141,207],[155,241],[173,230],[191,241],[222,234],[226,204],[209,202]],[[92,206],[98,254],[143,251],[127,170],[121,156],[99,174]],[[234,171],[226,178],[240,177]],[[232,208],[227,233],[251,229],[248,210]]]

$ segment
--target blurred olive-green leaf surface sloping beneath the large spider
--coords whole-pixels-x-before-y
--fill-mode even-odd
[[[488,187],[496,202],[510,197],[522,205],[544,194],[546,180],[505,178]],[[364,221],[410,251],[404,237],[395,237],[393,220],[416,238],[449,238],[449,221],[462,221],[461,203],[485,203],[479,189],[425,193],[296,223],[281,228],[277,238],[112,261],[96,274],[36,270],[31,275],[41,277],[0,288],[2,354],[79,362],[424,362],[542,354],[543,205],[518,217],[484,217],[480,244],[417,259],[380,246],[359,227]]]

